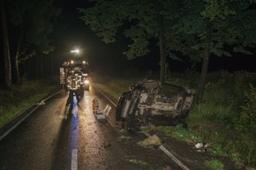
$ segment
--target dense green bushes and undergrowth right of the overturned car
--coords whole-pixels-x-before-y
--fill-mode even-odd
[[[255,73],[209,74],[205,100],[194,103],[188,121],[192,131],[204,129],[199,135],[204,141],[215,143],[213,152],[255,166],[255,89],[252,85],[256,85]]]

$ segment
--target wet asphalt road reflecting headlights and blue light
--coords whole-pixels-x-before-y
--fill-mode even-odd
[[[46,100],[0,141],[0,169],[184,169],[157,147],[141,147],[143,133],[120,130],[115,105],[93,86],[79,104],[67,95]],[[112,107],[106,120],[95,118],[94,98]]]

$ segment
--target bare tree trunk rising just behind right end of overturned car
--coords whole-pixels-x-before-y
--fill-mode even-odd
[[[200,85],[199,85],[199,92],[197,100],[201,101],[204,97],[205,87],[206,87],[206,79],[207,79],[207,71],[208,71],[208,64],[210,58],[210,50],[211,50],[211,33],[212,33],[212,26],[210,21],[207,19],[207,26],[206,26],[206,41],[205,41],[205,54],[203,55],[203,65],[200,75]]]

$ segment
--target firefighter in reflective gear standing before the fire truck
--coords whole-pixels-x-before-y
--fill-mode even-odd
[[[68,81],[68,87],[70,89],[69,93],[69,100],[73,100],[73,94],[75,94],[77,103],[80,101],[80,96],[79,96],[79,78],[75,75],[74,71],[71,71],[70,76],[67,79]]]

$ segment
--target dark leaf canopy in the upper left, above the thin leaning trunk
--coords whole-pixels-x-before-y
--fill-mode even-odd
[[[35,45],[43,53],[53,50],[49,44],[49,33],[53,31],[53,18],[60,10],[52,5],[51,0],[14,0],[9,3],[9,11],[11,24],[19,26],[18,32],[11,33],[16,38],[15,41],[25,35],[23,41]]]

